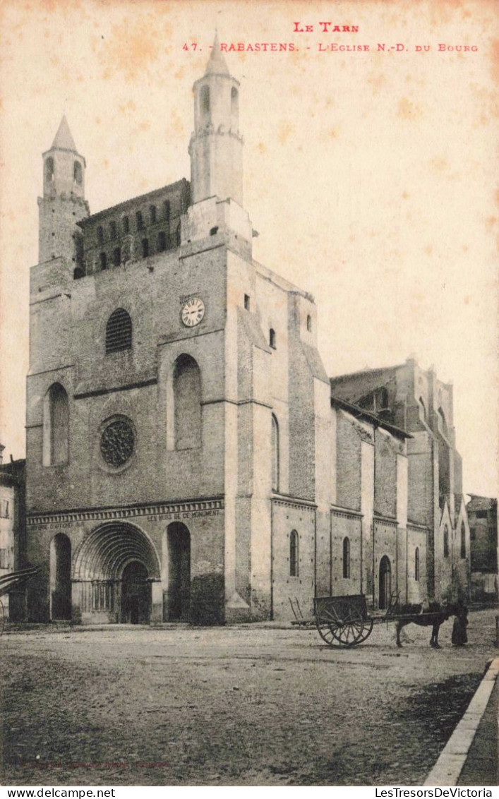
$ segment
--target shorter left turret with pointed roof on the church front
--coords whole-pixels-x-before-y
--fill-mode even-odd
[[[85,201],[85,158],[77,152],[65,117],[50,150],[43,153],[43,197],[38,197],[38,261],[64,257],[77,265],[81,232],[76,223],[89,216]]]

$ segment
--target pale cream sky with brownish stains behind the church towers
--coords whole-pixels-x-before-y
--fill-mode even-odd
[[[4,459],[25,455],[42,152],[65,113],[92,213],[188,178],[217,28],[235,45],[255,259],[315,296],[331,376],[414,355],[452,381],[464,491],[497,496],[496,16],[488,0],[4,0]]]

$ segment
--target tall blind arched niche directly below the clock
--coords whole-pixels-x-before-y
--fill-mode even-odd
[[[181,355],[173,370],[176,450],[201,446],[201,373],[194,358]]]

